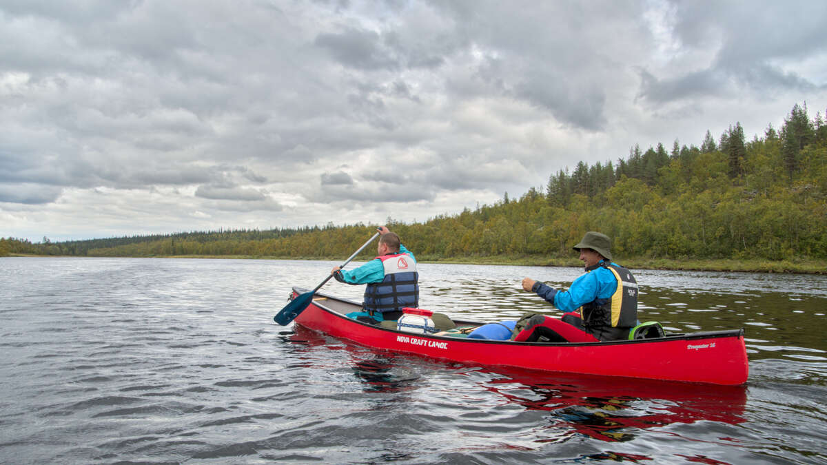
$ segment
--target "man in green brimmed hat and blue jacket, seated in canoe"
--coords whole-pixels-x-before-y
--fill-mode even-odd
[[[609,237],[586,232],[574,249],[586,265],[586,274],[569,290],[555,290],[542,282],[523,279],[523,290],[535,292],[561,309],[562,319],[534,315],[515,341],[594,342],[624,339],[638,324],[638,283],[632,273],[612,261]]]

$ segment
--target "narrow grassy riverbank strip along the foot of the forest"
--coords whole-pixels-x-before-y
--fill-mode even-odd
[[[10,256],[32,256],[31,254],[12,254]],[[175,255],[153,256],[151,258],[234,258],[242,260],[326,260],[341,261],[341,256],[251,256],[251,255]],[[372,256],[358,257],[356,261],[365,261]],[[517,266],[583,266],[580,260],[571,258],[550,258],[543,256],[469,256],[440,258],[437,256],[417,256],[420,263],[457,263],[467,265],[517,265]],[[755,273],[799,273],[808,275],[827,275],[824,261],[817,260],[676,260],[667,258],[633,257],[618,259],[620,265],[638,270],[685,270],[685,271],[744,271]]]

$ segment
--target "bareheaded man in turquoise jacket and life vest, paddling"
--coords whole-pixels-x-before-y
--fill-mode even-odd
[[[331,271],[339,282],[366,284],[362,306],[367,316],[357,319],[373,324],[399,319],[404,307],[418,307],[419,304],[419,273],[414,254],[385,226],[379,228],[379,232],[381,236],[376,247],[379,256],[351,271],[342,271],[338,266]]]

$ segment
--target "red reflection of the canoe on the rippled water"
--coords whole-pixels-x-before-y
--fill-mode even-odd
[[[699,385],[676,381],[638,380],[635,378],[551,373],[510,367],[476,368],[454,362],[423,361],[386,351],[375,351],[340,339],[328,339],[312,330],[296,326],[294,342],[330,347],[351,355],[354,375],[365,383],[366,392],[389,393],[417,390],[428,376],[423,363],[435,369],[456,370],[481,390],[493,392],[512,405],[525,410],[549,412],[552,428],[570,429],[601,441],[634,439],[635,431],[657,429],[669,424],[692,424],[707,420],[740,424],[747,394],[745,386]],[[456,385],[455,385],[456,386]],[[467,394],[467,387],[460,391]],[[436,395],[440,402],[451,401],[449,391]],[[457,395],[454,401],[461,402]],[[555,442],[538,439],[539,442]]]

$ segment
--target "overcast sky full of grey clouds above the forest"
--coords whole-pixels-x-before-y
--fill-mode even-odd
[[[827,2],[0,0],[0,237],[423,222],[827,108]]]

